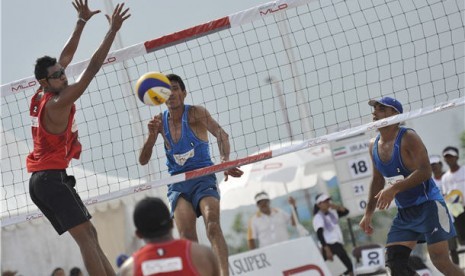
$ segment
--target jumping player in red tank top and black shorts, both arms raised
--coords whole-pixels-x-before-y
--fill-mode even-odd
[[[110,27],[105,38],[76,83],[68,85],[65,68],[73,59],[86,22],[100,12],[91,11],[87,0],[75,0],[73,6],[78,12],[76,27],[58,61],[44,56],[35,65],[34,74],[40,88],[32,97],[29,111],[34,141],[34,149],[26,160],[27,170],[32,173],[29,193],[58,234],[68,231],[74,238],[89,275],[114,275],[89,221],[91,216],[74,189],[76,180],[66,174],[66,168],[81,153],[74,102],[100,70],[116,33],[130,15],[129,9],[123,10],[124,4],[118,4],[111,17],[107,15]]]

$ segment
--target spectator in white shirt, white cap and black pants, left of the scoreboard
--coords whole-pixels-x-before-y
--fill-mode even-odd
[[[344,239],[339,226],[339,218],[347,216],[349,210],[333,204],[327,194],[317,195],[315,202],[313,229],[321,243],[323,259],[333,261],[333,255],[338,256],[347,269],[343,275],[353,275],[354,268],[344,249]]]

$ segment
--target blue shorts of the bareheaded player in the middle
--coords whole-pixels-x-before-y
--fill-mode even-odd
[[[180,196],[192,204],[197,217],[200,217],[202,213],[200,212],[199,205],[202,198],[213,196],[218,200],[220,199],[218,185],[216,183],[216,175],[210,174],[170,184],[168,185],[167,196],[171,207],[171,217],[174,216],[174,209],[176,208],[176,204]]]

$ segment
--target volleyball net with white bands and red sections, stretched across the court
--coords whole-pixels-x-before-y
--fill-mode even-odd
[[[461,0],[276,1],[114,51],[76,102],[83,152],[68,173],[92,205],[463,106],[463,15]],[[69,81],[87,64],[70,65]],[[160,142],[138,163],[148,121],[166,108],[135,96],[150,71],[184,79],[185,103],[223,126],[232,161],[219,164],[210,139],[212,167],[169,176]],[[1,87],[3,226],[42,216],[25,169],[37,88],[34,77]],[[409,112],[371,122],[367,101],[381,96]],[[266,151],[290,141],[304,142]]]

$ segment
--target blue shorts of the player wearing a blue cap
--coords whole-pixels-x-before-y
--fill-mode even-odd
[[[427,244],[433,244],[455,235],[446,204],[430,200],[417,206],[399,208],[389,230],[387,244],[403,241],[426,241]]]

